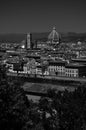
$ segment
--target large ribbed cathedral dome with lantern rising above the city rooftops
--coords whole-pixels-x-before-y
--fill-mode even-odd
[[[52,32],[49,34],[48,40],[49,41],[55,41],[55,42],[59,41],[59,33],[56,31],[55,27],[53,27]]]

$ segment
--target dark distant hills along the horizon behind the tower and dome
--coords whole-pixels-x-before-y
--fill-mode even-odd
[[[63,42],[70,42],[70,41],[86,41],[86,33],[59,33],[61,36],[61,41]],[[32,40],[47,40],[49,32],[43,33],[32,33]],[[0,42],[18,42],[26,40],[26,34],[0,34]]]

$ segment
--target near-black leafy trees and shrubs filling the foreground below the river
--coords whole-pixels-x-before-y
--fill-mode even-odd
[[[48,90],[39,103],[27,99],[21,80],[0,66],[0,130],[86,130],[86,88]]]

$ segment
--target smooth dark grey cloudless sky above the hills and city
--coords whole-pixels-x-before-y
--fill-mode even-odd
[[[86,32],[86,0],[0,0],[0,33]]]

